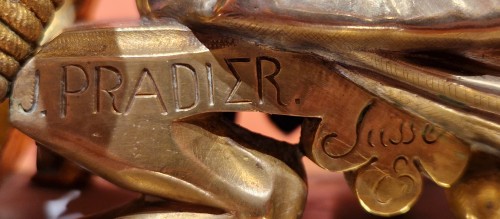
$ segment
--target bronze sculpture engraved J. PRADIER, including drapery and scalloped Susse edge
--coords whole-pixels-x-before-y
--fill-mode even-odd
[[[301,152],[349,171],[381,215],[408,210],[419,172],[450,186],[471,147],[498,154],[497,11],[398,23],[274,3],[138,1],[194,34],[172,20],[67,31],[21,70],[11,120],[125,188],[236,217],[300,216]],[[301,143],[217,115],[249,110],[306,117]]]

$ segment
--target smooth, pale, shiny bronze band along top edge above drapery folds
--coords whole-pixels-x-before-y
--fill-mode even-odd
[[[160,17],[251,15],[315,24],[450,28],[498,24],[496,0],[137,0],[139,10]],[[240,17],[241,18],[241,17]],[[476,22],[480,21],[480,22]]]

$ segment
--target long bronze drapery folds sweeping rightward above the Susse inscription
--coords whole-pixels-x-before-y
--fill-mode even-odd
[[[432,23],[407,24],[409,18],[402,15],[385,22],[325,23],[322,21],[334,20],[337,15],[302,13],[319,8],[306,0],[289,16],[284,9],[266,10],[283,1],[257,1],[253,8],[246,1],[141,2],[144,15],[175,17],[195,32],[216,30],[338,63],[336,68],[344,77],[393,105],[439,124],[470,144],[500,149],[498,7],[480,13],[484,19],[478,21],[472,15],[465,16],[467,13],[456,12],[458,17],[465,16],[461,19],[447,15],[443,25],[448,28],[440,28]],[[420,16],[428,17],[425,13]],[[462,25],[464,22],[467,25]]]

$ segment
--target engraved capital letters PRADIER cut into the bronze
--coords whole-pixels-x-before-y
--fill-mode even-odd
[[[255,61],[255,63],[254,63]],[[272,85],[276,90],[276,101],[281,106],[287,106],[282,100],[282,91],[276,77],[282,71],[282,64],[278,59],[269,56],[258,56],[254,58],[228,58],[225,59],[229,71],[232,73],[236,79],[236,83],[231,88],[225,101],[225,104],[265,104],[264,92],[267,88]],[[243,91],[241,86],[244,81],[242,79],[243,72],[238,72],[236,64],[247,63],[252,66],[244,66],[245,73],[247,70],[251,69],[252,76],[257,78],[257,84],[252,84],[255,90],[255,99],[242,98],[237,100],[238,92]],[[207,74],[207,85],[200,85],[200,69],[196,69],[191,64],[188,63],[173,63],[170,66],[171,81],[158,81],[155,78],[156,72],[151,72],[148,67],[141,69],[140,76],[137,80],[135,78],[130,79],[128,72],[122,72],[121,68],[116,66],[121,66],[122,63],[117,62],[117,65],[113,63],[107,63],[105,65],[94,65],[86,66],[87,63],[82,64],[69,64],[62,66],[63,75],[61,81],[61,106],[60,106],[60,117],[66,117],[68,98],[70,96],[79,95],[91,95],[92,106],[91,113],[99,114],[103,111],[111,111],[116,115],[128,115],[131,113],[132,107],[134,106],[137,99],[155,99],[159,105],[162,115],[168,115],[168,109],[175,109],[175,112],[186,112],[196,108],[201,103],[201,98],[207,99],[207,104],[209,106],[215,106],[217,95],[216,90],[216,77],[214,73],[214,68],[211,63],[205,63],[205,71]],[[84,67],[85,66],[85,67]],[[88,69],[93,69],[93,71],[88,71]],[[273,69],[267,70],[266,69]],[[203,71],[203,70],[201,70]],[[135,75],[135,74],[132,74]],[[247,75],[245,75],[247,76]],[[249,77],[245,77],[248,79]],[[76,79],[76,80],[75,80]],[[192,79],[192,80],[191,80]],[[131,80],[131,83],[127,83]],[[191,82],[192,81],[192,82]],[[267,83],[268,82],[268,83]],[[129,85],[130,84],[130,85]],[[131,96],[122,97],[124,90],[129,90],[127,86],[134,86],[132,88]],[[164,86],[168,86],[169,90],[167,93],[162,93],[164,91]],[[208,86],[208,94],[201,96],[200,86]],[[248,88],[245,88],[248,89]],[[203,89],[204,90],[204,89]],[[90,92],[91,91],[91,92]],[[173,92],[173,93],[171,93]],[[189,95],[193,95],[189,103],[183,101],[186,96],[183,92],[188,92]],[[128,92],[126,92],[128,93]],[[182,94],[181,94],[182,93]],[[248,94],[247,91],[244,93]],[[172,95],[172,99],[167,98]],[[258,96],[258,97],[257,97]],[[122,98],[125,99],[125,104],[121,105],[120,102]],[[256,100],[258,98],[258,100]],[[77,99],[75,98],[75,101]],[[171,102],[166,102],[172,100]],[[73,101],[73,100],[72,100]],[[300,99],[295,99],[296,104],[301,104]],[[106,105],[106,106],[105,106]],[[107,106],[111,105],[111,106]],[[172,105],[172,106],[171,106]],[[76,106],[76,105],[75,105]],[[169,108],[171,107],[171,108]],[[25,110],[27,106],[24,106]]]

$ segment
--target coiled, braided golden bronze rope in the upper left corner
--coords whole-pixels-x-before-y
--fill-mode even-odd
[[[0,102],[64,0],[0,0]]]

